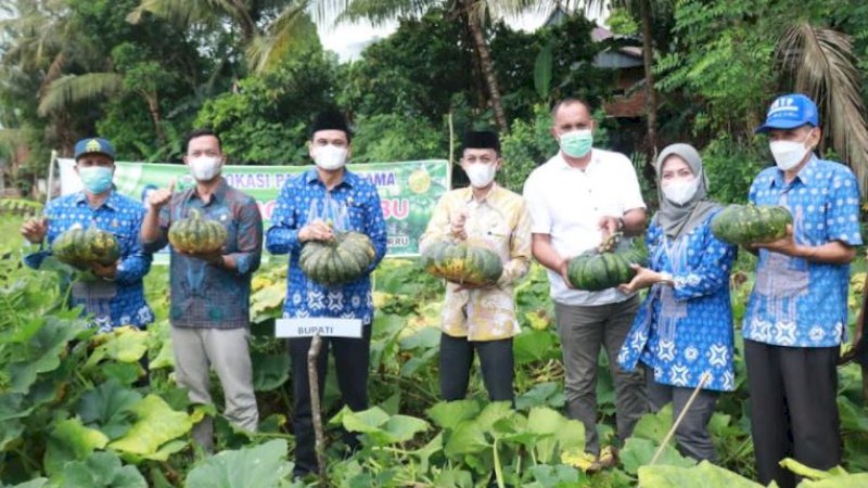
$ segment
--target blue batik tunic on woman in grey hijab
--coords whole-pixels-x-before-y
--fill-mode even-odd
[[[729,272],[737,248],[712,234],[715,214],[674,240],[654,221],[648,228],[649,267],[675,284],[649,290],[618,354],[625,370],[641,361],[660,384],[695,387],[707,374],[705,389],[736,388]]]

